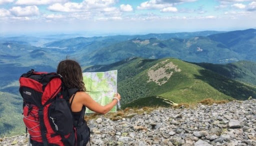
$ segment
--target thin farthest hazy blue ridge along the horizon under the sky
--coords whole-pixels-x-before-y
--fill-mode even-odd
[[[73,50],[84,50],[86,46],[89,46],[91,50],[95,50],[100,47],[108,46],[120,41],[127,41],[129,39],[140,38],[149,39],[157,38],[159,40],[165,40],[169,38],[190,38],[194,36],[208,36],[211,34],[220,33],[220,31],[198,31],[198,32],[179,32],[179,33],[149,33],[145,35],[114,35],[114,36],[95,36],[95,37],[75,37],[70,39],[63,39],[59,41],[49,42],[44,44],[45,47],[62,48]],[[99,43],[99,44],[98,44]],[[92,45],[94,44],[94,45]],[[97,44],[97,46],[95,46]],[[92,46],[90,46],[92,45]]]

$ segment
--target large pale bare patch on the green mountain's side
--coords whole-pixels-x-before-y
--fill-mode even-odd
[[[166,59],[149,68],[147,72],[149,80],[147,83],[153,81],[158,85],[162,85],[168,81],[173,72],[181,71],[177,65],[168,61],[169,59]]]

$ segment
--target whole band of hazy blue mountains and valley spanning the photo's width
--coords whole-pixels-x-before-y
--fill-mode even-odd
[[[255,32],[255,29],[247,29],[224,33],[202,31],[76,37],[46,43],[46,48],[35,47],[24,41],[1,40],[0,62],[19,62],[22,66],[29,66],[28,60],[33,59],[37,65],[55,67],[66,56],[82,65],[109,64],[132,56],[151,59],[174,57],[189,62],[208,63],[256,61]]]

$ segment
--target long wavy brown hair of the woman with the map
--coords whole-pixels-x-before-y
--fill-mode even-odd
[[[79,91],[86,91],[82,79],[80,65],[70,59],[60,61],[57,67],[57,74],[63,77],[63,82],[67,88],[77,88]]]

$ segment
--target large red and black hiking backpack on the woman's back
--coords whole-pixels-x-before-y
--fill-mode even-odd
[[[34,70],[19,78],[23,122],[34,146],[75,146],[69,98],[77,90],[68,90],[61,78],[57,73]]]

